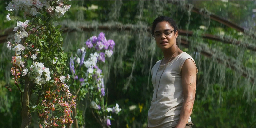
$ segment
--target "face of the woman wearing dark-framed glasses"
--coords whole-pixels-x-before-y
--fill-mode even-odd
[[[176,45],[178,32],[174,33],[174,28],[168,22],[163,21],[156,24],[154,36],[157,46],[162,50],[166,50]]]

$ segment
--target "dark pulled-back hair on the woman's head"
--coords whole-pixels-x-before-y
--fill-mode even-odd
[[[151,29],[151,35],[152,36],[154,35],[154,30],[156,28],[157,23],[163,22],[163,21],[168,22],[174,28],[174,32],[176,32],[176,30],[178,29],[178,27],[176,26],[175,21],[172,18],[167,17],[167,16],[160,16],[160,17],[157,17],[154,20],[154,22],[152,23],[152,29]]]

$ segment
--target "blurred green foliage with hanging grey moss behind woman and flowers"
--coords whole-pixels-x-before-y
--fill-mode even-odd
[[[0,1],[0,35],[9,34],[7,40],[11,40],[10,32],[16,21],[6,20],[8,3]],[[189,41],[188,47],[180,45],[180,48],[195,59],[199,70],[191,115],[193,127],[256,127],[256,54],[248,49],[248,46],[255,48],[255,36],[209,18],[210,14],[217,15],[244,28],[246,33],[255,34],[255,1],[69,1],[69,4],[71,8],[64,17],[55,19],[56,24],[63,26],[63,46],[69,57],[101,31],[116,43],[114,56],[103,65],[108,103],[118,103],[122,108],[120,116],[113,117],[111,127],[142,128],[147,124],[153,95],[150,71],[162,58],[147,29],[160,15],[172,17],[179,29],[193,31],[192,36],[180,35]],[[207,13],[192,12],[192,7]],[[25,20],[21,12],[14,15]],[[120,27],[126,29],[117,29]],[[223,43],[205,39],[204,34],[233,40],[231,44]],[[7,40],[0,42],[0,127],[17,128],[21,124],[20,93],[16,88],[11,91],[5,88],[14,84],[10,74],[13,51],[7,49]],[[202,51],[212,56],[206,57]],[[89,111],[85,109],[86,124],[81,127],[100,127]],[[36,119],[32,119],[31,127],[38,127]]]

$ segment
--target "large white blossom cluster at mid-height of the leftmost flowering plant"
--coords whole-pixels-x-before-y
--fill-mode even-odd
[[[35,78],[32,78],[32,80],[34,80],[36,84],[45,84],[46,81],[51,79],[49,68],[44,67],[43,63],[33,62],[29,68],[32,74],[35,75]],[[42,73],[44,73],[45,79],[41,77],[43,75]]]

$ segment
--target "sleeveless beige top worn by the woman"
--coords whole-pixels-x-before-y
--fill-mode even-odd
[[[182,52],[168,64],[160,66],[161,60],[157,61],[151,69],[151,81],[154,86],[154,93],[151,106],[148,110],[149,128],[171,128],[175,127],[178,123],[182,103],[184,100],[182,91],[181,68],[187,59],[194,61],[194,59],[188,53]],[[165,66],[167,67],[164,70]],[[156,90],[162,72],[163,75],[159,84],[156,101]],[[191,118],[189,117],[188,122],[190,121]]]

